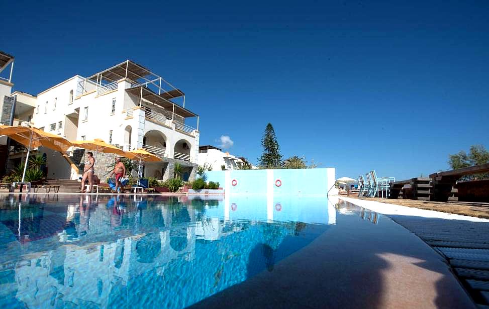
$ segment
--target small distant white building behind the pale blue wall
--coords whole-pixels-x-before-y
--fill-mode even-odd
[[[243,160],[222,149],[206,145],[199,147],[199,165],[207,164],[212,170],[234,170],[243,167]]]

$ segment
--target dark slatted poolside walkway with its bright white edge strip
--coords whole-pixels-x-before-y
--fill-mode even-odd
[[[386,214],[440,253],[474,301],[489,305],[489,220],[340,197]]]

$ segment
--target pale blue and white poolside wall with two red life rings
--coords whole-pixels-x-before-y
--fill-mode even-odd
[[[207,180],[218,181],[225,193],[327,195],[335,182],[332,167],[209,171],[206,174]]]

